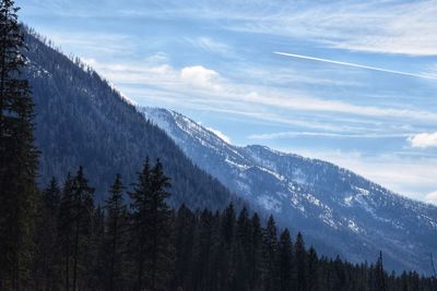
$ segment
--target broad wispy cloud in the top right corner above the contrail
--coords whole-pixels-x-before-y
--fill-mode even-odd
[[[253,10],[241,9],[240,20],[245,21],[229,28],[306,37],[353,51],[437,56],[435,0],[276,3],[276,9],[263,10],[264,17],[250,20]]]

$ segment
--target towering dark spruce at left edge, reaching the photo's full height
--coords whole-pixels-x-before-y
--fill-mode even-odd
[[[25,66],[24,38],[13,0],[0,1],[0,289],[26,288],[33,259],[35,177],[34,105]]]

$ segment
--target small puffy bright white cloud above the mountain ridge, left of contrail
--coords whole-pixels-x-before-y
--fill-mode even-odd
[[[221,89],[218,84],[220,74],[202,65],[186,66],[180,71],[182,81],[201,88],[213,90]]]

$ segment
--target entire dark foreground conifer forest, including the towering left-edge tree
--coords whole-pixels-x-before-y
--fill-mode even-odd
[[[434,277],[388,274],[383,254],[318,256],[300,233],[233,204],[175,210],[160,159],[145,157],[133,185],[116,174],[102,203],[82,167],[38,185],[17,11],[0,1],[0,290],[437,290]]]

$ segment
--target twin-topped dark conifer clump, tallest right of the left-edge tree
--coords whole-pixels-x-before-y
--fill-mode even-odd
[[[173,272],[173,213],[166,204],[169,178],[160,160],[150,169],[149,159],[130,193],[132,199],[135,290],[165,290]]]

